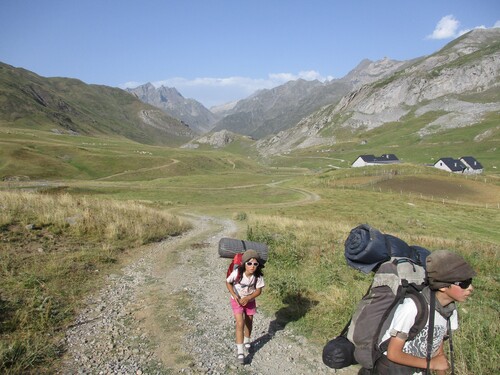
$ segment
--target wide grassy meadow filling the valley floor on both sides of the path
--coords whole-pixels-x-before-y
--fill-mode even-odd
[[[141,245],[187,230],[177,214],[190,212],[238,218],[248,239],[269,245],[262,306],[319,346],[344,327],[371,280],[344,260],[353,227],[456,250],[478,273],[474,296],[460,306],[456,373],[497,373],[494,145],[462,153],[436,138],[402,147],[399,134],[394,153],[405,164],[348,168],[355,155],[385,153],[385,137],[373,134],[368,150],[345,143],[257,163],[247,145],[186,150],[0,128],[0,371],[50,372],[83,296]],[[450,175],[423,166],[426,153],[485,155],[487,172]]]

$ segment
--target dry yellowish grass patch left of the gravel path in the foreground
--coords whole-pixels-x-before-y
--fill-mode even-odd
[[[139,245],[190,225],[135,202],[0,192],[0,372],[53,373],[83,297]]]

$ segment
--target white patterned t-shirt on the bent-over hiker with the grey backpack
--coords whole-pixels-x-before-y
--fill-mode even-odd
[[[437,301],[436,301],[437,303]],[[389,329],[382,337],[382,342],[389,339],[391,336],[396,336],[398,332],[408,334],[410,328],[415,323],[417,316],[417,306],[411,298],[405,298],[404,302],[398,306],[392,319]],[[454,331],[458,328],[457,310],[454,310],[450,317],[451,329]],[[439,349],[439,345],[444,339],[447,332],[447,321],[443,316],[435,311],[434,313],[434,336],[432,344],[432,356],[434,357]],[[429,331],[429,319],[425,327],[417,334],[413,340],[407,340],[403,351],[415,357],[425,358],[427,355],[427,332]],[[384,353],[384,354],[387,354]]]

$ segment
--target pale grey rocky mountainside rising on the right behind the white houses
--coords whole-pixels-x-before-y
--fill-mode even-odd
[[[363,64],[366,64],[363,63]],[[376,63],[381,79],[361,80],[341,100],[301,119],[295,126],[257,142],[264,155],[334,145],[354,135],[405,116],[442,115],[418,134],[472,126],[500,111],[500,28],[473,30],[436,53],[401,63]],[[389,70],[386,70],[389,67]],[[356,70],[356,69],[355,69]],[[351,82],[365,76],[353,71]],[[347,77],[347,76],[346,76]]]

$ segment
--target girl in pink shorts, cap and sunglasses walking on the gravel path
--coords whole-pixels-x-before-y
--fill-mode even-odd
[[[264,287],[264,264],[255,250],[243,253],[242,266],[238,266],[226,279],[231,293],[231,308],[236,320],[236,350],[239,363],[245,363],[244,348],[251,348],[253,316],[257,312],[255,298],[260,296]]]

